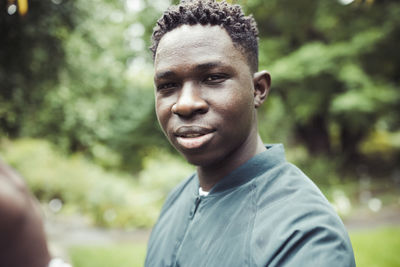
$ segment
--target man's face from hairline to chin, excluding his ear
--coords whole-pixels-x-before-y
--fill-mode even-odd
[[[154,64],[157,118],[190,163],[219,164],[257,137],[253,75],[223,28],[168,32]]]

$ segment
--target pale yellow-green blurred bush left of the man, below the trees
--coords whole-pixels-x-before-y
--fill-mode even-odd
[[[43,140],[3,140],[0,151],[41,202],[58,199],[63,212],[83,213],[102,226],[152,226],[169,190],[191,171],[163,151],[146,159],[140,180],[105,171],[78,154],[64,156]]]

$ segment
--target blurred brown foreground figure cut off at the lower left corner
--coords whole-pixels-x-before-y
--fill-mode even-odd
[[[0,160],[0,266],[45,267],[49,263],[37,201],[22,178]]]

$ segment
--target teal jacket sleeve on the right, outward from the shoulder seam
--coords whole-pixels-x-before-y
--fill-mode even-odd
[[[260,176],[256,200],[253,242],[256,250],[275,251],[267,257],[269,265],[354,266],[341,219],[295,165],[286,162]],[[258,260],[265,263],[266,258]]]

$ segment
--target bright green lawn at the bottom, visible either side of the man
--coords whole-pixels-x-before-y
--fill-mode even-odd
[[[357,266],[400,266],[400,226],[350,234]],[[143,266],[146,244],[78,246],[70,250],[74,267]]]

